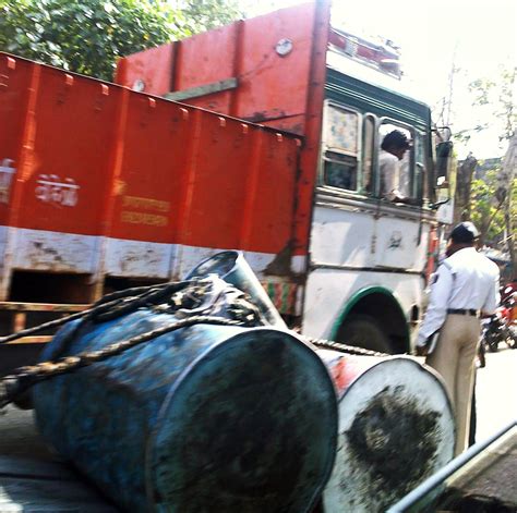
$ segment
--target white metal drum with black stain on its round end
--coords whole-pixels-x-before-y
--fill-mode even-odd
[[[384,512],[453,459],[455,423],[444,384],[411,357],[317,353],[339,408],[325,513]]]

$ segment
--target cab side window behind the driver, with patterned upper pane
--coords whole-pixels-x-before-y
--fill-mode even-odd
[[[361,135],[359,114],[328,103],[324,120],[324,184],[347,191],[358,191]]]

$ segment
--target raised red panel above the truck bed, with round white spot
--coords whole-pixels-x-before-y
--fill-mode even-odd
[[[315,4],[306,3],[177,41],[176,57],[170,46],[129,56],[119,62],[117,82],[133,87],[141,80],[145,93],[165,95],[235,77],[235,88],[185,101],[303,135],[315,15]],[[161,78],[166,65],[171,82]]]

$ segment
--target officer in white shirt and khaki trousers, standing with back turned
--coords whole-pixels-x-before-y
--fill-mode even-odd
[[[437,370],[456,414],[456,450],[467,448],[474,359],[481,315],[491,315],[500,301],[498,267],[476,249],[479,233],[471,222],[450,233],[447,258],[431,284],[430,302],[417,339],[417,354]]]

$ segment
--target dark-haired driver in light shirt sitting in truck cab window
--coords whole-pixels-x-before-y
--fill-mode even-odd
[[[406,135],[394,130],[389,132],[381,144],[378,154],[378,172],[381,176],[381,197],[394,203],[417,205],[417,200],[405,196],[400,190],[404,187],[400,160],[411,147]]]

